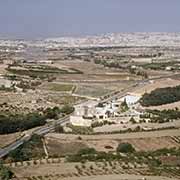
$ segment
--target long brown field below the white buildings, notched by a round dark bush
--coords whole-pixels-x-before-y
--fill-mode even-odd
[[[81,140],[79,140],[79,136],[81,137]],[[118,144],[122,142],[131,143],[137,151],[151,151],[162,148],[180,147],[180,143],[175,141],[173,138],[174,136],[178,138],[180,137],[179,130],[79,136],[55,133],[46,135],[45,139],[49,154],[72,154],[85,147],[95,148],[97,151],[108,152],[116,150]],[[107,146],[110,146],[111,148],[107,149]]]

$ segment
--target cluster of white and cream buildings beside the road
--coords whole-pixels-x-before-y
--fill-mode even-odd
[[[99,104],[97,101],[89,100],[86,103],[75,106],[75,112],[70,117],[70,122],[74,126],[89,127],[94,120],[110,120],[114,117],[139,117],[141,113],[134,110],[134,107],[140,98],[141,96],[137,94],[129,93],[118,100],[105,104]],[[120,113],[120,106],[124,101],[126,101],[129,111]]]

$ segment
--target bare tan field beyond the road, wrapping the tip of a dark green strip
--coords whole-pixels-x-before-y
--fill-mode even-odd
[[[53,66],[58,68],[70,69],[74,68],[83,72],[83,74],[62,74],[58,77],[59,81],[116,81],[116,80],[127,80],[139,79],[140,77],[131,75],[125,71],[105,68],[102,65],[97,65],[92,62],[85,62],[83,60],[68,60],[68,61],[58,61]]]

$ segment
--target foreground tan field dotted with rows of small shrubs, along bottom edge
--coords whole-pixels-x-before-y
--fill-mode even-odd
[[[63,163],[58,159],[36,160],[31,162],[16,163],[12,168],[17,179],[41,180],[41,179],[105,179],[137,180],[146,177],[151,180],[168,180],[173,177],[179,179],[178,168],[165,168],[158,175],[146,164],[129,163],[122,161],[87,162],[87,163]],[[160,169],[158,169],[160,171]],[[169,174],[168,174],[169,173]],[[168,178],[169,177],[169,178]],[[117,179],[116,179],[117,178]]]

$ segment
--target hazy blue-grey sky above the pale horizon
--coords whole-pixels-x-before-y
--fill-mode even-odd
[[[0,0],[0,37],[180,32],[180,0]]]

